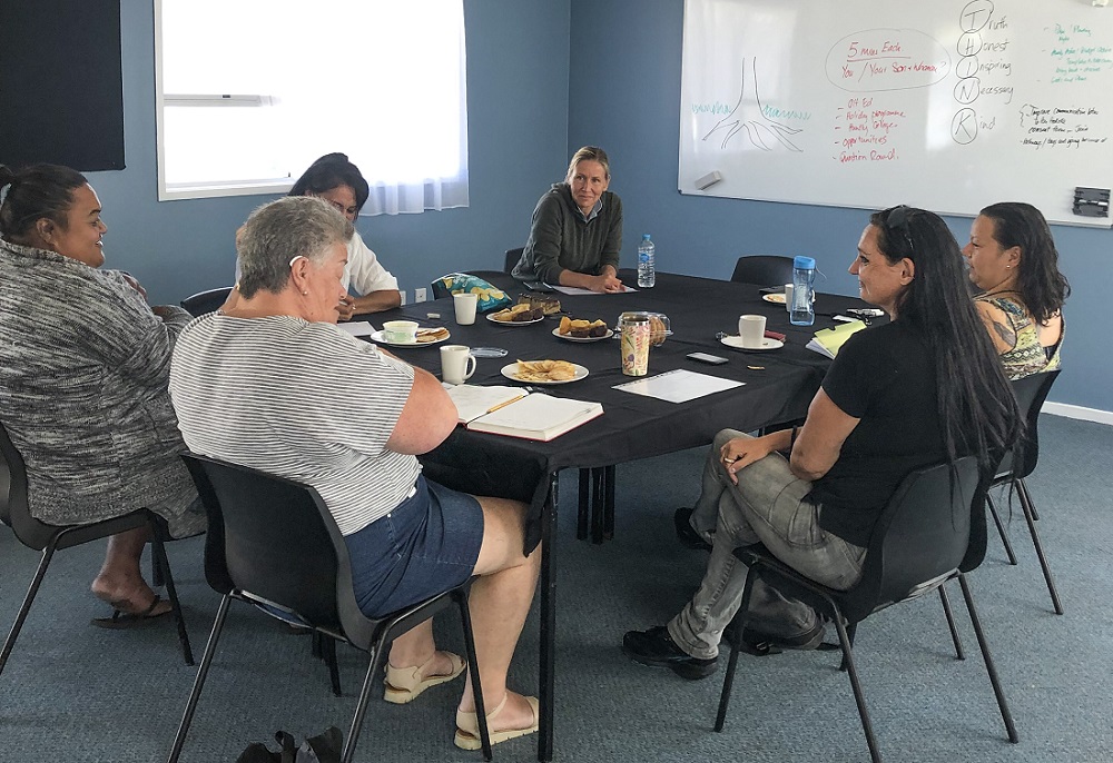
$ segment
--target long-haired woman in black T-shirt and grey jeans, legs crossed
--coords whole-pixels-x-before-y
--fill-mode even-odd
[[[1016,403],[944,221],[904,206],[875,212],[850,272],[861,298],[890,321],[843,346],[802,427],[716,437],[690,518],[711,545],[707,573],[668,625],[626,634],[623,651],[636,662],[686,678],[710,675],[746,583],[735,548],[761,543],[845,591],[861,577],[874,523],[905,475],[975,454],[986,479],[1014,443]],[[815,648],[824,625],[807,604],[758,578],[742,637]]]

